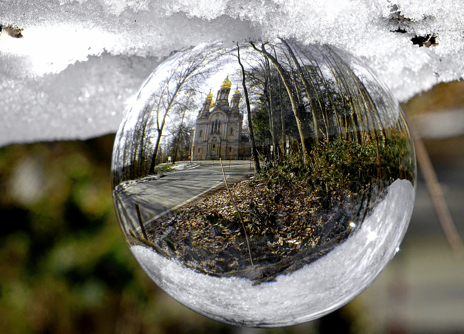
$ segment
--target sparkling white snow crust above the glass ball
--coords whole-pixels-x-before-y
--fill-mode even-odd
[[[463,77],[462,7],[444,0],[4,1],[0,25],[23,29],[24,37],[0,35],[0,145],[116,132],[125,100],[164,57],[216,40],[331,44],[364,58],[406,101]],[[438,45],[413,45],[429,34]]]

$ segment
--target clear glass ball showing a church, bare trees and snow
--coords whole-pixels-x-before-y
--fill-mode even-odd
[[[203,44],[136,95],[113,151],[130,249],[176,300],[231,324],[313,320],[403,239],[416,164],[398,102],[329,46]]]

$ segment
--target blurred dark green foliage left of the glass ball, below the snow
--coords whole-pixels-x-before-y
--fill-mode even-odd
[[[0,333],[240,333],[175,302],[129,252],[111,199],[113,140],[0,149]],[[259,333],[347,332],[330,319]]]

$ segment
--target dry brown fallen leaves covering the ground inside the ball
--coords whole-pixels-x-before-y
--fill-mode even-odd
[[[154,221],[147,230],[150,246],[194,271],[246,277],[259,284],[329,252],[348,237],[346,222],[355,220],[362,210],[361,205],[354,208],[357,202],[349,200],[347,191],[329,192],[324,199],[329,209],[324,210],[318,197],[307,195],[303,183],[272,189],[265,183],[251,187],[249,183],[229,188],[250,235],[254,266],[226,189]]]

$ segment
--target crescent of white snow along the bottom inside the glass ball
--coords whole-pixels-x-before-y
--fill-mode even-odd
[[[161,289],[200,314],[235,325],[290,326],[342,307],[372,284],[403,240],[414,196],[411,182],[396,180],[353,236],[316,262],[270,283],[212,277],[145,246],[130,250]]]

